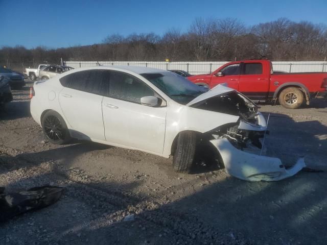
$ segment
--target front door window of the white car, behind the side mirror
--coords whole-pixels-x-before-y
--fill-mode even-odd
[[[141,103],[143,96],[155,96],[155,92],[143,81],[124,72],[110,71],[109,97],[133,103]]]

